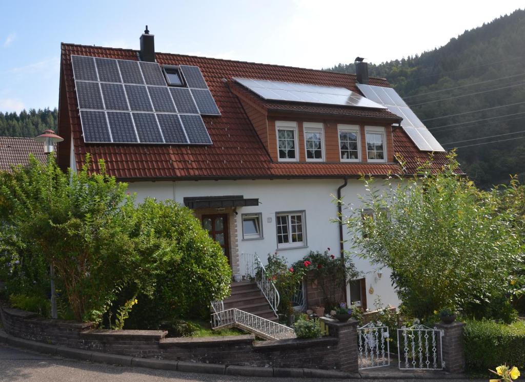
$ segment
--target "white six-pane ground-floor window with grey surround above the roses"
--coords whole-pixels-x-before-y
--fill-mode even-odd
[[[277,248],[306,247],[304,211],[276,212]]]

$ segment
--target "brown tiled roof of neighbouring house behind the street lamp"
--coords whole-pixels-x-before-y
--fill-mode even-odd
[[[28,165],[29,154],[46,162],[44,147],[33,138],[0,137],[0,171],[10,171],[13,165]]]

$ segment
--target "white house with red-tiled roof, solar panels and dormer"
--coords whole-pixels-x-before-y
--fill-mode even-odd
[[[243,274],[243,254],[264,261],[278,251],[290,263],[328,247],[341,255],[347,237],[331,222],[334,195],[359,203],[361,173],[413,174],[431,151],[434,166],[446,162],[421,121],[387,80],[369,78],[364,62],[353,75],[159,53],[148,30],[140,46],[62,43],[59,166],[78,169],[89,153],[93,170],[103,159],[139,201],[187,205],[234,274]],[[348,302],[373,308],[380,296],[398,305],[390,271],[380,277],[367,261],[355,264],[364,276],[350,283]]]

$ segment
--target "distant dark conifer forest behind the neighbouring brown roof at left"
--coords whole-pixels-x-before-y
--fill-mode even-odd
[[[0,113],[0,136],[36,137],[46,129],[57,129],[58,111],[29,109],[17,113]]]

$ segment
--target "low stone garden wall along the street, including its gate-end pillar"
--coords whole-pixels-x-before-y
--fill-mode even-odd
[[[0,304],[7,334],[81,350],[225,365],[338,369],[357,372],[356,321],[327,322],[314,340],[254,341],[253,335],[166,338],[165,331],[92,330],[90,323],[39,318]]]

